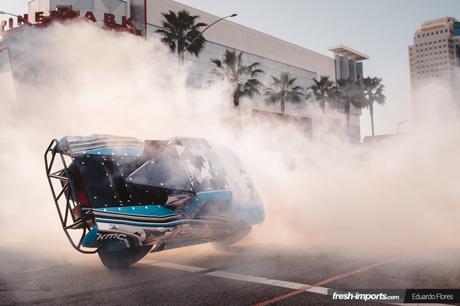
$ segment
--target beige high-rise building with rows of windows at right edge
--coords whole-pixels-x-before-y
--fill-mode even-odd
[[[412,90],[438,80],[460,92],[460,22],[454,17],[425,21],[409,46]]]

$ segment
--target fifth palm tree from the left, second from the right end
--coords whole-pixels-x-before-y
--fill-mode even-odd
[[[337,80],[337,95],[335,104],[341,108],[347,116],[347,132],[350,133],[351,106],[361,109],[365,106],[364,91],[360,81],[351,79]]]

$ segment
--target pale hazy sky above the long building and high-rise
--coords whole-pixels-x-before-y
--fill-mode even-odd
[[[330,55],[327,49],[345,44],[366,53],[364,74],[379,76],[387,86],[387,104],[376,110],[376,133],[392,133],[396,123],[411,117],[407,46],[428,19],[460,19],[460,0],[180,0],[302,47]],[[27,11],[26,0],[0,0],[0,10]],[[370,131],[363,111],[362,134]]]

